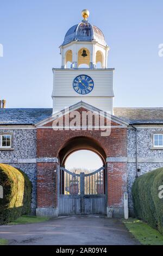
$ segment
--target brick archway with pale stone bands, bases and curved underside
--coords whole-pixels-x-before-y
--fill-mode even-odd
[[[82,103],[81,103],[82,104]],[[79,113],[86,111],[80,107]],[[117,123],[116,123],[117,122]],[[78,149],[97,153],[107,167],[108,215],[123,216],[123,193],[127,191],[127,126],[111,119],[111,133],[101,130],[53,130],[53,118],[37,127],[37,215],[58,216],[57,170]]]

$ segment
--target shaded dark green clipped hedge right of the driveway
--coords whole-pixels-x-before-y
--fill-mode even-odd
[[[163,198],[159,198],[160,185],[163,185],[163,168],[137,178],[133,184],[132,194],[136,217],[163,234]]]

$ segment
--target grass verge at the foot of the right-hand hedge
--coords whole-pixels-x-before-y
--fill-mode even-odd
[[[129,218],[122,220],[134,237],[140,241],[142,245],[163,245],[163,235],[156,229],[151,228],[147,223]]]

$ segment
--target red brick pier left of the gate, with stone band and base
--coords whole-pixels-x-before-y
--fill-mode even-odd
[[[37,216],[58,216],[56,158],[37,159]]]

